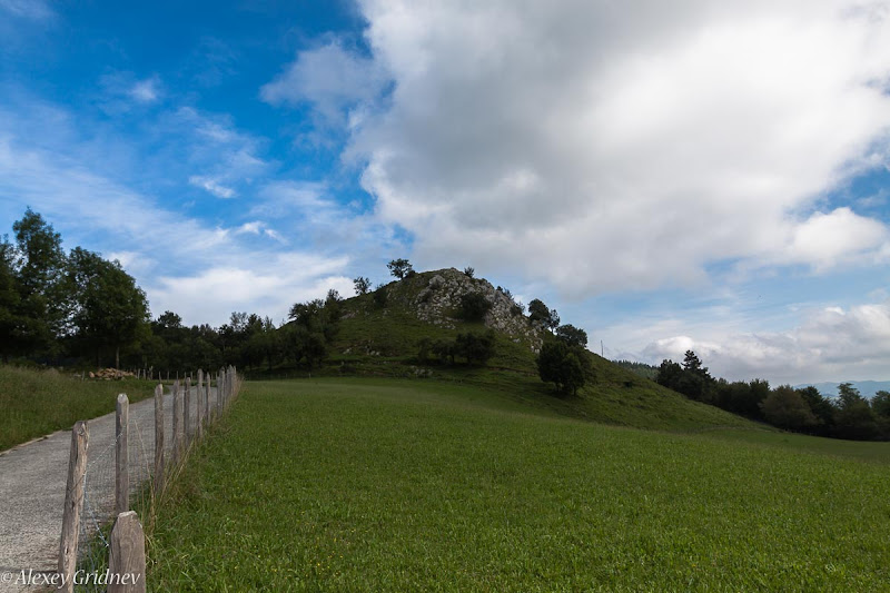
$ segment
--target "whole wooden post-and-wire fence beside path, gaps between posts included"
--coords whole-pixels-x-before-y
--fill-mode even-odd
[[[215,376],[198,370],[195,383],[190,376],[176,380],[166,395],[158,384],[154,407],[131,411],[127,395],[118,395],[113,428],[75,424],[59,542],[61,591],[146,590],[145,532],[154,528],[155,502],[239,387],[235,367]],[[90,448],[91,436],[98,451]]]

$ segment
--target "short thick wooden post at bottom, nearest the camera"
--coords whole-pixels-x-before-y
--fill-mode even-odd
[[[108,593],[146,590],[146,534],[135,511],[120,513],[111,530]]]

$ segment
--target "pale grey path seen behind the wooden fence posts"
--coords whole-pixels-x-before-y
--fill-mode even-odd
[[[191,394],[194,423],[197,402]],[[211,389],[211,402],[216,389]],[[172,446],[172,396],[164,398],[165,449]],[[154,467],[155,403],[130,404],[130,492],[147,480]],[[89,518],[106,521],[113,513],[115,414],[87,423],[86,507]],[[181,429],[181,427],[180,427]],[[62,506],[71,448],[71,431],[60,431],[0,454],[0,593],[29,591],[7,574],[21,571],[55,572],[59,556]]]

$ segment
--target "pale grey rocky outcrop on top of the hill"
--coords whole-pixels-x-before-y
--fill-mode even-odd
[[[426,287],[414,298],[413,306],[419,319],[443,327],[455,327],[461,312],[461,297],[471,293],[481,294],[492,305],[485,315],[486,327],[511,336],[517,344],[526,342],[535,353],[541,349],[543,328],[530,323],[508,294],[498,290],[488,280],[471,278],[455,268],[432,273]]]

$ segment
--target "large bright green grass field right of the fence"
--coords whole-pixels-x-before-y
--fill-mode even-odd
[[[433,380],[253,383],[157,508],[148,582],[888,591],[888,444],[606,426]]]

